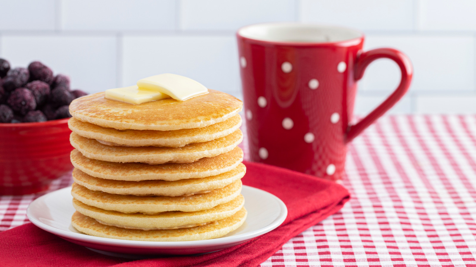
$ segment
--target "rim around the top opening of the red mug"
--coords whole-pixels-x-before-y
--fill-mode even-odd
[[[315,29],[340,29],[340,30],[347,30],[353,31],[357,34],[357,37],[354,38],[347,38],[343,40],[337,41],[284,41],[284,40],[271,40],[267,38],[253,38],[243,34],[244,30],[247,30],[252,27],[269,27],[269,26],[278,26],[278,27],[302,27],[302,28],[315,28]],[[267,44],[274,44],[274,45],[288,45],[288,46],[328,46],[328,45],[339,45],[339,46],[352,46],[357,45],[361,42],[362,39],[365,38],[365,34],[357,29],[354,28],[347,28],[337,25],[327,25],[327,24],[313,24],[313,23],[301,23],[301,22],[265,22],[265,23],[256,23],[247,26],[243,26],[239,28],[236,32],[237,37],[244,38],[248,40],[253,40],[256,42],[262,42]]]

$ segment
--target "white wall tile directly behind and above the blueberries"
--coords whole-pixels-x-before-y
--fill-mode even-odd
[[[71,87],[94,93],[116,86],[116,38],[84,36],[5,36],[1,57],[12,67],[39,60],[55,74],[71,78]]]

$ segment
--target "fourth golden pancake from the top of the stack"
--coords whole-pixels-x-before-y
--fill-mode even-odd
[[[71,151],[71,163],[76,169],[94,177],[121,181],[177,181],[204,178],[229,172],[242,161],[243,151],[239,147],[212,158],[201,158],[196,162],[160,165],[137,162],[105,162],[89,159],[77,149]]]

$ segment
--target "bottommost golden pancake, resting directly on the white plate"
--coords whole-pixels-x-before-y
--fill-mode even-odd
[[[71,218],[71,225],[78,231],[90,236],[137,241],[193,241],[222,237],[240,227],[246,219],[247,211],[241,208],[234,215],[192,228],[170,230],[125,229],[99,223],[76,211]]]

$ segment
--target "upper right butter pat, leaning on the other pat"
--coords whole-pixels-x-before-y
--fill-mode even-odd
[[[173,99],[187,100],[197,95],[208,94],[207,87],[190,78],[177,74],[164,73],[140,79],[140,90],[149,90],[170,95]]]

